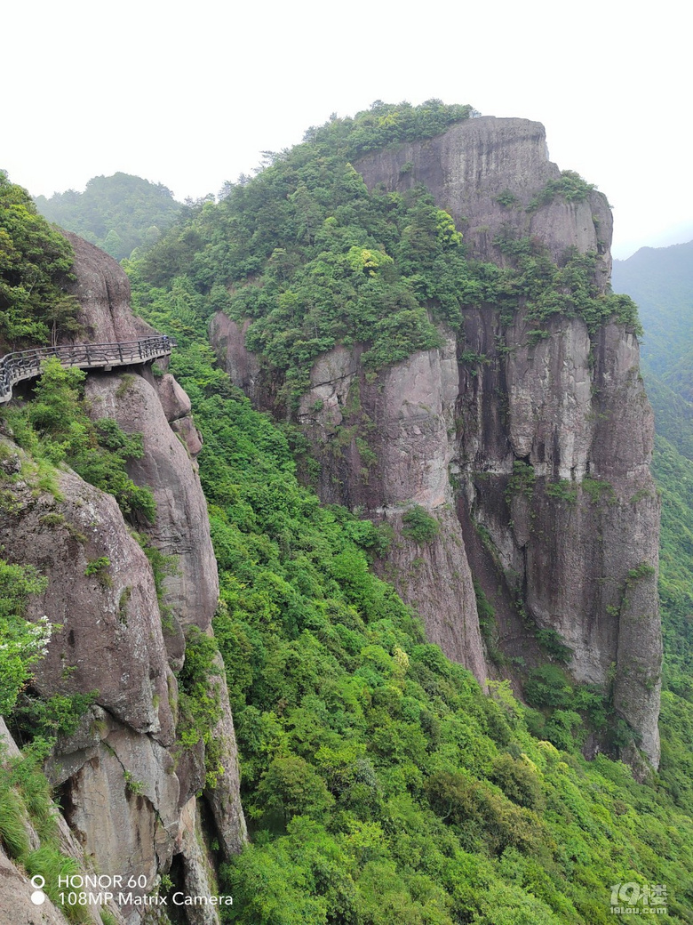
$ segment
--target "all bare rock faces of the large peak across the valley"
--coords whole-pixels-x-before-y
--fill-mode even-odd
[[[608,286],[608,203],[586,187],[551,192],[561,173],[538,123],[470,119],[355,166],[371,188],[425,183],[473,256],[504,265],[498,236],[529,236],[556,261],[566,248],[596,254],[595,285]],[[220,362],[257,404],[286,413],[275,375],[245,349],[247,327],[215,315]],[[292,413],[321,462],[322,499],[392,525],[381,571],[482,684],[501,674],[520,689],[528,669],[569,657],[573,679],[608,694],[656,766],[659,502],[638,340],[560,315],[538,330],[522,300],[511,319],[469,304],[456,332],[439,329],[440,348],[377,376],[360,363],[366,345],[314,365]],[[433,524],[417,531],[419,509]],[[483,644],[472,576],[494,611]],[[614,746],[588,745],[600,747]],[[638,760],[635,746],[621,754]]]

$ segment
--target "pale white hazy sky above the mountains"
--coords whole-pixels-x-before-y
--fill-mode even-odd
[[[537,119],[614,206],[614,255],[693,238],[681,0],[9,0],[0,167],[33,194],[122,170],[217,192],[374,100]]]

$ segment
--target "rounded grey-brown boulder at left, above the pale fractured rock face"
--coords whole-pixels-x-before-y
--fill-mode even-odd
[[[62,498],[15,483],[0,522],[8,561],[35,565],[48,587],[31,600],[30,619],[55,630],[34,685],[46,696],[97,691],[98,702],[138,734],[162,745],[175,736],[152,569],[130,536],[115,499],[74,473],[59,476]],[[101,563],[101,564],[100,564]]]

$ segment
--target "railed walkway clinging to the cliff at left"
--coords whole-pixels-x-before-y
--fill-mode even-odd
[[[12,387],[16,383],[40,376],[43,361],[54,356],[66,367],[109,370],[114,366],[134,366],[170,356],[176,346],[173,338],[156,335],[111,344],[68,344],[65,347],[40,347],[37,350],[6,353],[0,358],[0,403],[12,398]]]

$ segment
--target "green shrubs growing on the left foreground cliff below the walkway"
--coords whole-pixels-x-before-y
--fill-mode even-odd
[[[141,435],[126,434],[108,418],[91,421],[80,389],[86,375],[48,360],[29,401],[1,406],[3,433],[11,433],[25,452],[0,439],[0,463],[5,463],[0,467],[0,512],[16,512],[15,489],[27,485],[35,494],[49,491],[60,499],[56,467],[67,464],[91,485],[113,495],[131,524],[151,524],[156,515],[152,491],[135,485],[127,473],[128,461],[142,455]],[[44,514],[41,524],[46,530],[66,526],[75,539],[86,542],[86,536],[67,524],[60,512]],[[152,563],[156,582],[157,573],[166,568],[166,557],[134,536]],[[107,584],[110,564],[101,557],[89,562],[85,574]],[[46,618],[29,623],[24,611],[30,595],[44,589],[45,579],[31,566],[0,561],[0,715],[20,742],[54,742],[58,734],[71,734],[98,696],[98,691],[91,691],[46,698],[32,688],[31,669],[44,653],[51,624]]]

